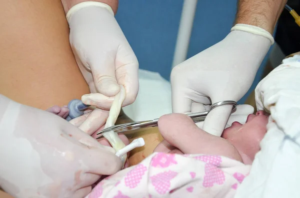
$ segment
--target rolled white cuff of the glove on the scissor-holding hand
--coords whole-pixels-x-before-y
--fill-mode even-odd
[[[240,31],[246,31],[252,34],[260,35],[265,38],[268,38],[271,41],[271,45],[274,44],[274,38],[272,34],[270,34],[268,31],[261,27],[253,26],[253,25],[247,25],[247,24],[236,24],[234,25],[230,31],[233,30],[240,30]]]

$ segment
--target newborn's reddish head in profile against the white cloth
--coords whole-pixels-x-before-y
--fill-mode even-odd
[[[260,150],[260,141],[266,133],[268,114],[258,111],[250,114],[244,125],[233,122],[223,131],[222,138],[229,141],[239,152],[244,164],[251,164]]]

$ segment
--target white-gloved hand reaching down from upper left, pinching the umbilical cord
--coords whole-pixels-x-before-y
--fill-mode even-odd
[[[85,1],[74,5],[66,18],[70,45],[91,92],[81,97],[82,102],[109,110],[123,85],[126,98],[122,106],[133,103],[138,92],[138,61],[111,7]],[[97,123],[106,118],[100,110],[93,111],[84,125],[100,127]]]

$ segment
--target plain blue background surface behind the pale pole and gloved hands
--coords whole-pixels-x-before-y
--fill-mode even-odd
[[[198,0],[187,58],[222,40],[230,31],[236,0]],[[183,0],[120,0],[116,20],[139,62],[169,80]],[[217,15],[215,15],[217,14]],[[268,55],[267,55],[268,56]],[[266,57],[267,57],[266,56]],[[266,58],[242,104],[262,75]]]

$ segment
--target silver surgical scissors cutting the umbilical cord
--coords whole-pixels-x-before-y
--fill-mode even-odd
[[[212,109],[219,107],[219,106],[223,106],[223,105],[232,105],[233,106],[231,109],[231,113],[232,113],[236,109],[237,104],[235,101],[231,101],[231,100],[220,101],[220,102],[210,105],[210,109],[208,111],[189,113],[186,115],[189,116],[193,120],[194,123],[201,122],[201,121],[204,121],[205,117]],[[133,131],[133,130],[141,129],[141,128],[157,127],[157,122],[158,122],[158,118],[153,119],[153,120],[147,120],[147,121],[130,122],[130,123],[125,123],[125,124],[115,125],[115,126],[108,127],[106,129],[99,131],[97,133],[98,137],[96,139],[100,139],[103,136],[103,133],[108,132],[108,131],[114,131],[115,133],[121,133],[121,132]]]

